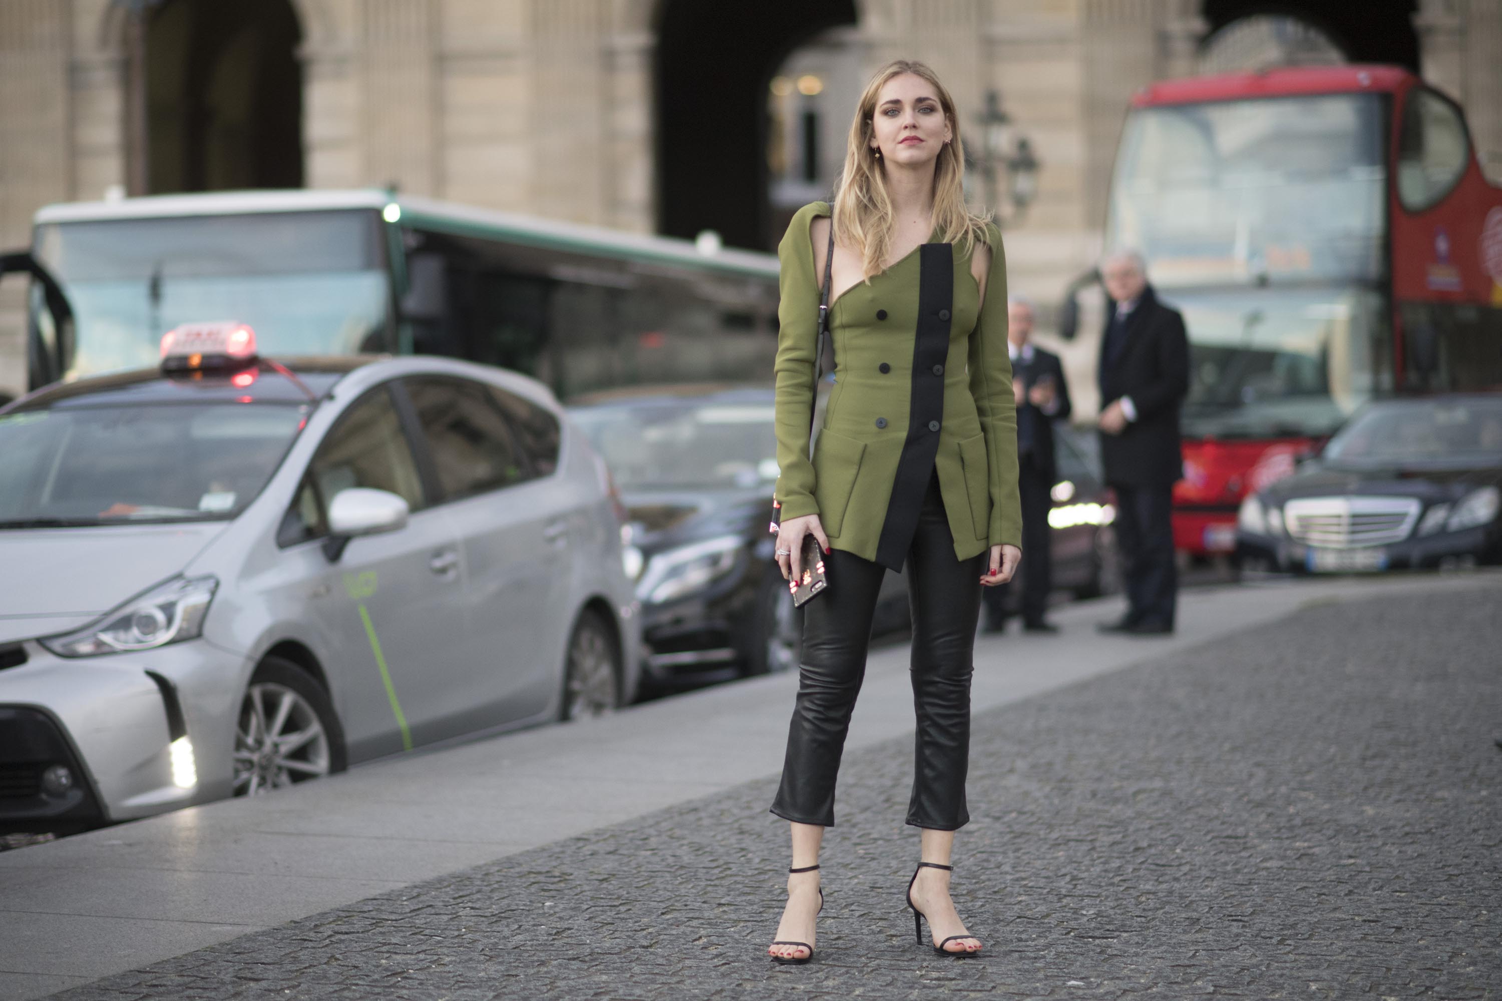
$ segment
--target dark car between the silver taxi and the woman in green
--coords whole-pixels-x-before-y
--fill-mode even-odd
[[[643,669],[765,674],[796,666],[801,617],[777,563],[772,389],[656,386],[569,401],[628,510],[626,575],[641,600]],[[888,575],[876,632],[907,623]]]

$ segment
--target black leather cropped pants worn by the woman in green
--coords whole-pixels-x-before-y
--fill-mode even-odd
[[[850,711],[865,677],[871,618],[886,567],[853,552],[825,557],[829,588],[804,606],[804,657],[798,705],[787,734],[783,785],[772,812],[799,824],[835,822],[835,776]],[[987,552],[954,555],[954,537],[931,476],[907,551],[907,600],[913,617],[913,705],[918,713],[916,774],[907,807],[915,827],[958,830],[970,813],[964,776],[970,753],[970,674],[981,614]]]

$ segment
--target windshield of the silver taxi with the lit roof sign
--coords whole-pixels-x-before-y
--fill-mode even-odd
[[[164,404],[0,414],[0,528],[233,518],[281,464],[305,413]]]

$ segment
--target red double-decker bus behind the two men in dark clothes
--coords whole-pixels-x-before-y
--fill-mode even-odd
[[[1235,548],[1248,491],[1359,404],[1502,389],[1502,189],[1464,116],[1394,66],[1175,80],[1140,92],[1107,246],[1184,312],[1175,542]]]

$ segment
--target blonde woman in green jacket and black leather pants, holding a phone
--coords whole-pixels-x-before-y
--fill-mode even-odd
[[[940,953],[981,948],[949,900],[949,854],[969,819],[981,587],[1011,579],[1021,515],[1006,261],[999,230],[964,204],[963,173],[949,92],[922,63],[895,62],[861,95],[834,206],[801,209],[778,248],[777,558],[796,582],[813,533],[828,587],[805,606],[798,705],[772,803],[793,837],[787,906],[768,950],[777,962],[814,953],[819,846],[834,825],[840,753],[882,576],[904,561],[918,714],[907,822],[921,828],[907,905],[919,929],[927,917]],[[837,377],[810,461],[825,276]]]

